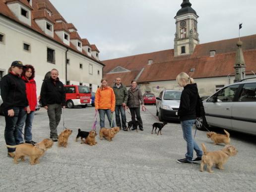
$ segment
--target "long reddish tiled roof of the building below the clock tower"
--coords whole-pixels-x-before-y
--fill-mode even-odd
[[[138,82],[175,80],[182,71],[189,73],[193,78],[234,75],[237,41],[238,38],[199,44],[195,47],[193,54],[187,56],[174,57],[174,50],[171,49],[102,61],[106,64],[104,76],[115,76],[117,73],[106,73],[117,66],[122,66],[132,72],[137,71],[137,74],[144,68]],[[256,72],[256,35],[241,37],[241,41],[243,42],[246,74],[253,74],[251,70]],[[214,57],[210,57],[211,50],[216,51]],[[148,64],[148,60],[153,60],[153,64]],[[190,72],[192,68],[194,72]],[[129,74],[129,72],[122,73],[128,78],[125,73]]]

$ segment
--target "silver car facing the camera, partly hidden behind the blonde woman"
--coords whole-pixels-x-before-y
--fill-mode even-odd
[[[182,91],[164,90],[156,98],[156,115],[159,121],[179,120],[178,109]]]

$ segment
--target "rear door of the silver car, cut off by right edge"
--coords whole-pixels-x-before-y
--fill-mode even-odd
[[[231,124],[234,129],[256,134],[256,82],[243,85],[231,115]]]

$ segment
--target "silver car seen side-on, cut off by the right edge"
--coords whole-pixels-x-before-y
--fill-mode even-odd
[[[244,79],[225,86],[203,101],[205,121],[198,129],[219,127],[256,135],[256,80]]]

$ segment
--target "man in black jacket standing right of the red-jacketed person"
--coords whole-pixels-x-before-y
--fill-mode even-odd
[[[47,110],[50,125],[50,138],[58,141],[57,127],[61,121],[62,106],[65,108],[64,85],[59,79],[59,71],[51,70],[51,78],[44,80],[41,88],[42,106]]]

